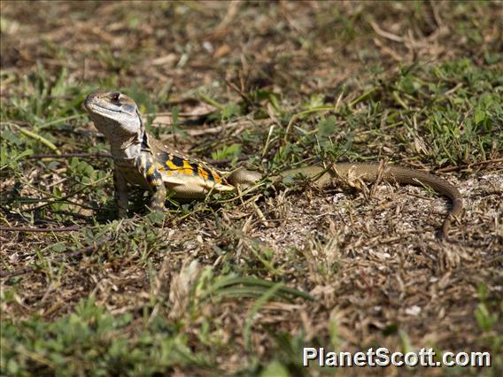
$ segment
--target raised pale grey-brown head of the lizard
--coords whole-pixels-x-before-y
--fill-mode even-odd
[[[84,107],[110,142],[130,139],[143,132],[138,106],[119,91],[97,89],[86,97]]]

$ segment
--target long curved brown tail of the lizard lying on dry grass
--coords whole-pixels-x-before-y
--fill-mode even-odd
[[[343,180],[360,178],[363,181],[375,182],[382,179],[391,183],[429,186],[438,193],[449,197],[453,202],[453,207],[442,224],[441,235],[445,240],[449,239],[449,229],[453,219],[459,216],[463,209],[463,199],[457,188],[431,173],[420,170],[411,170],[394,165],[341,163],[332,165],[329,169],[316,165],[291,169],[272,177],[272,179],[273,181],[282,181],[285,177],[295,177],[296,175],[303,175],[313,179],[314,185],[321,188],[334,181],[337,177]]]

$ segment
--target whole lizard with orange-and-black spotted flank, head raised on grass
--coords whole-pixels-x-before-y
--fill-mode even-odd
[[[452,201],[452,209],[442,224],[441,237],[449,239],[454,218],[460,215],[463,200],[458,188],[432,173],[398,165],[378,163],[337,163],[324,167],[311,165],[285,170],[265,177],[259,172],[238,168],[231,173],[217,170],[204,161],[192,158],[173,147],[159,142],[143,126],[137,104],[117,90],[97,89],[84,101],[98,131],[110,143],[114,169],[114,203],[119,218],[128,215],[128,186],[151,191],[151,211],[166,211],[166,193],[175,199],[204,199],[211,192],[250,188],[268,178],[275,186],[283,179],[299,175],[311,179],[315,187],[325,188],[337,178],[348,180],[357,176],[362,181],[383,180],[416,186],[429,186]]]

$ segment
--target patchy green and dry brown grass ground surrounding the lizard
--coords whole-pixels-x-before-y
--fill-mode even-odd
[[[491,368],[429,372],[499,375],[497,4],[130,5],[1,4],[1,373],[325,375],[303,347],[382,346],[487,350]],[[441,198],[383,185],[265,185],[166,216],[135,192],[114,220],[112,160],[81,108],[97,87],[222,169],[435,171],[465,198],[457,242],[435,236]]]

